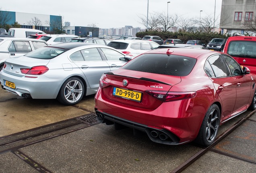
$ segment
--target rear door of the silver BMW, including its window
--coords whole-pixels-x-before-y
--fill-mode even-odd
[[[97,89],[101,75],[110,71],[109,65],[102,60],[97,48],[77,51],[71,54],[69,58],[83,71],[91,89]]]

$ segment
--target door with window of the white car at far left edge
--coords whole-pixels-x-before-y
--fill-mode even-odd
[[[8,47],[8,53],[10,57],[18,57],[31,52],[31,45],[29,41],[25,40],[12,40]]]

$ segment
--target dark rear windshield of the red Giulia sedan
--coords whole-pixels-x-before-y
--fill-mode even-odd
[[[140,72],[187,76],[196,63],[195,58],[167,54],[142,54],[122,68]]]

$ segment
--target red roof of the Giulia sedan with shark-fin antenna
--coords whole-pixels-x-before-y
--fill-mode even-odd
[[[225,54],[223,52],[217,52],[206,49],[189,49],[189,48],[159,48],[154,49],[149,52],[145,52],[144,54],[175,54],[181,56],[188,56],[191,58],[198,58],[202,54],[207,54],[207,56],[213,54]]]

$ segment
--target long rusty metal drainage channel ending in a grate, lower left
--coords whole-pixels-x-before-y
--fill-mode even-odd
[[[0,138],[0,154],[98,124],[90,113]]]

